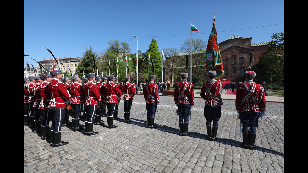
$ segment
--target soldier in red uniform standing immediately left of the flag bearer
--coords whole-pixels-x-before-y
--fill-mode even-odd
[[[187,82],[188,73],[181,73],[182,81],[175,84],[174,102],[178,107],[180,135],[190,135],[188,132],[188,117],[194,107],[193,84]]]

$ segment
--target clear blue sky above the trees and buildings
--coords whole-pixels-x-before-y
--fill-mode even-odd
[[[82,57],[86,47],[101,53],[116,39],[136,53],[137,34],[141,52],[152,38],[160,50],[180,49],[190,39],[190,23],[200,31],[192,38],[208,41],[214,14],[218,42],[237,35],[260,43],[284,31],[282,0],[24,0],[24,54],[36,66],[30,58],[52,58],[45,47],[55,57]]]

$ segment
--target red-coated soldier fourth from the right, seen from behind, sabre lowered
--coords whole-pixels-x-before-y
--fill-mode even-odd
[[[150,82],[144,87],[144,100],[146,101],[147,120],[149,128],[157,128],[154,125],[155,111],[159,105],[158,85],[154,83],[155,76],[149,76]]]

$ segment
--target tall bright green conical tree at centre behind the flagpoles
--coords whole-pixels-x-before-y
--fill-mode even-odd
[[[149,45],[149,49],[146,50],[144,55],[147,55],[147,58],[149,57],[149,52],[150,52],[150,59],[151,63],[153,62],[154,64],[154,71],[155,71],[155,77],[156,80],[162,80],[162,57],[161,54],[159,53],[159,49],[157,46],[156,40],[153,38],[151,44]],[[146,66],[148,64],[146,63]],[[146,74],[148,74],[148,68],[144,68]],[[140,72],[140,69],[139,69]],[[150,75],[152,75],[152,68],[150,67]]]

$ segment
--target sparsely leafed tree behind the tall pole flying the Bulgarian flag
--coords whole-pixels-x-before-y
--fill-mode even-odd
[[[181,44],[181,51],[190,58],[190,39],[187,39],[183,44]],[[191,39],[192,83],[201,81],[201,76],[205,73],[205,56],[206,41],[203,41],[200,38]],[[190,71],[190,68],[188,69]]]

